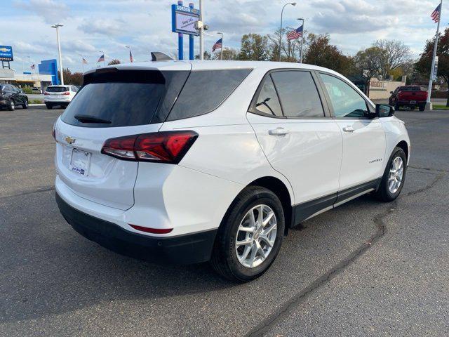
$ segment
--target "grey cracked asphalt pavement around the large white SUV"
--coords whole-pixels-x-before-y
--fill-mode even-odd
[[[308,220],[260,279],[233,284],[67,225],[53,189],[62,111],[0,111],[0,336],[449,335],[449,112],[396,113],[412,157],[395,202]]]

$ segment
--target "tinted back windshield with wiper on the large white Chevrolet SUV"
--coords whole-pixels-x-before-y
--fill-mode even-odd
[[[92,128],[160,123],[166,119],[188,75],[185,71],[114,68],[87,74],[82,88],[62,114],[62,121]],[[82,122],[79,115],[109,123]]]

